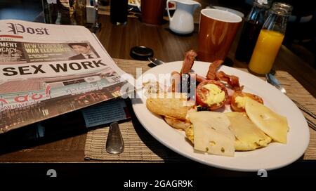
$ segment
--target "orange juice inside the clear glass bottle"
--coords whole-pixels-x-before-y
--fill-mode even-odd
[[[256,74],[268,74],[279,52],[284,34],[261,29],[254,52],[249,62],[249,70]]]

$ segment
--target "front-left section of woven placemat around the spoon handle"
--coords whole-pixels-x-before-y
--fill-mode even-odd
[[[137,120],[137,119],[136,119]],[[138,123],[138,121],[134,122]],[[105,150],[109,126],[89,131],[86,137],[85,158],[107,161],[137,161],[137,162],[166,162],[185,161],[184,157],[164,147],[150,136],[140,125],[132,121],[119,124],[121,136],[124,140],[124,152],[109,154]]]

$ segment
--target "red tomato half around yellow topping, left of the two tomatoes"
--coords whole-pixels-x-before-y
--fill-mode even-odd
[[[206,103],[206,100],[207,100],[207,97],[211,96],[211,95],[209,95],[209,90],[204,88],[204,86],[206,84],[214,84],[214,85],[218,86],[218,88],[220,88],[220,90],[224,91],[225,99],[218,104],[216,103],[213,105],[208,105]],[[196,98],[197,98],[197,105],[201,105],[202,107],[209,107],[210,110],[217,110],[218,108],[223,107],[225,105],[225,101],[228,99],[228,91],[227,91],[226,87],[222,83],[220,83],[220,81],[216,81],[216,80],[202,81],[197,86]]]

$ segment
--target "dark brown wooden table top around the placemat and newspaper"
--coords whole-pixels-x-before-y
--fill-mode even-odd
[[[169,23],[164,23],[161,26],[149,26],[144,25],[138,18],[129,18],[127,25],[112,25],[110,18],[105,15],[100,15],[100,22],[102,23],[102,29],[98,33],[98,38],[112,58],[131,59],[129,55],[131,47],[147,46],[154,50],[155,57],[170,62],[183,60],[185,51],[197,49],[197,25],[193,34],[178,36],[169,31]],[[237,39],[228,57],[235,62],[235,67],[245,68],[245,63],[234,59],[236,46]],[[147,65],[144,67],[147,67]],[[126,72],[131,72],[129,71],[131,68],[133,66],[128,68],[125,65],[124,69]],[[275,70],[289,72],[314,96],[315,102],[315,70],[284,46],[282,46],[275,61]],[[291,84],[288,85],[291,86]],[[308,98],[313,99],[312,96]],[[308,104],[305,104],[305,106],[309,107]],[[309,108],[315,112],[315,107],[310,106]],[[51,140],[51,143],[1,154],[0,162],[87,162],[84,160],[85,140],[86,133],[60,140]],[[313,155],[315,155],[313,159],[316,159],[316,154]]]

